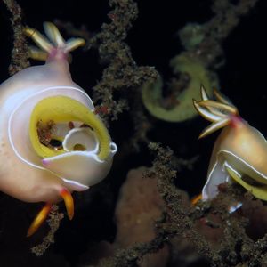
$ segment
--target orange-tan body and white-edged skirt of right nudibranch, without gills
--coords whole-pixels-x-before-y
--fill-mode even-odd
[[[235,170],[240,177],[247,176],[267,184],[266,158],[267,142],[254,127],[241,119],[224,127],[214,144],[203,199],[214,198],[218,185],[230,181],[231,175],[225,166]]]

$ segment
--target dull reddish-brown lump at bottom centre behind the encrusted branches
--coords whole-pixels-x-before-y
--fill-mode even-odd
[[[165,209],[158,194],[157,180],[144,178],[145,167],[131,170],[120,190],[116,207],[117,237],[115,247],[124,248],[136,242],[148,242],[155,238],[154,225]],[[157,254],[146,255],[142,267],[166,266],[168,248]]]

